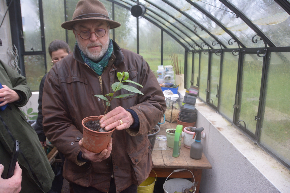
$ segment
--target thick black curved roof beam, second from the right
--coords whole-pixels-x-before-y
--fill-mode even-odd
[[[247,16],[245,16],[244,14],[242,14],[242,12],[235,8],[235,6],[233,6],[226,0],[219,1],[226,5],[227,8],[232,10],[237,15],[237,17],[240,17],[247,25],[249,25],[249,27],[251,27],[252,30],[256,32],[270,47],[275,47],[271,40],[269,40],[269,38],[265,34],[263,34],[263,32],[258,27],[256,27],[255,24],[253,24],[252,21],[247,18]]]

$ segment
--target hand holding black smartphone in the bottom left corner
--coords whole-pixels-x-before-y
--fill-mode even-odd
[[[22,170],[16,162],[16,166],[14,169],[14,175],[5,180],[1,178],[1,174],[3,173],[4,166],[0,164],[0,192],[1,193],[18,193],[21,190],[21,180],[22,180]]]

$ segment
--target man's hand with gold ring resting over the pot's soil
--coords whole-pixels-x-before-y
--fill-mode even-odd
[[[105,128],[107,131],[113,128],[116,128],[117,130],[126,129],[134,123],[134,119],[131,113],[126,111],[121,106],[116,107],[113,111],[108,112],[105,116],[100,115],[99,119],[101,124],[100,126]]]

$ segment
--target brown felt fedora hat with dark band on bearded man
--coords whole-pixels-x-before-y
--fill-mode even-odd
[[[66,21],[61,24],[61,27],[67,30],[73,30],[73,24],[79,21],[102,20],[110,24],[110,29],[119,27],[121,23],[110,20],[108,12],[98,0],[81,0],[77,2],[75,12],[73,13],[73,20]]]

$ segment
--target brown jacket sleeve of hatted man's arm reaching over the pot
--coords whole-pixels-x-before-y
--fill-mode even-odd
[[[143,58],[142,58],[143,59]],[[166,110],[165,97],[162,89],[148,63],[143,59],[138,89],[144,94],[138,94],[138,104],[130,107],[139,117],[139,130],[127,129],[131,136],[144,135],[150,131],[162,118]]]

